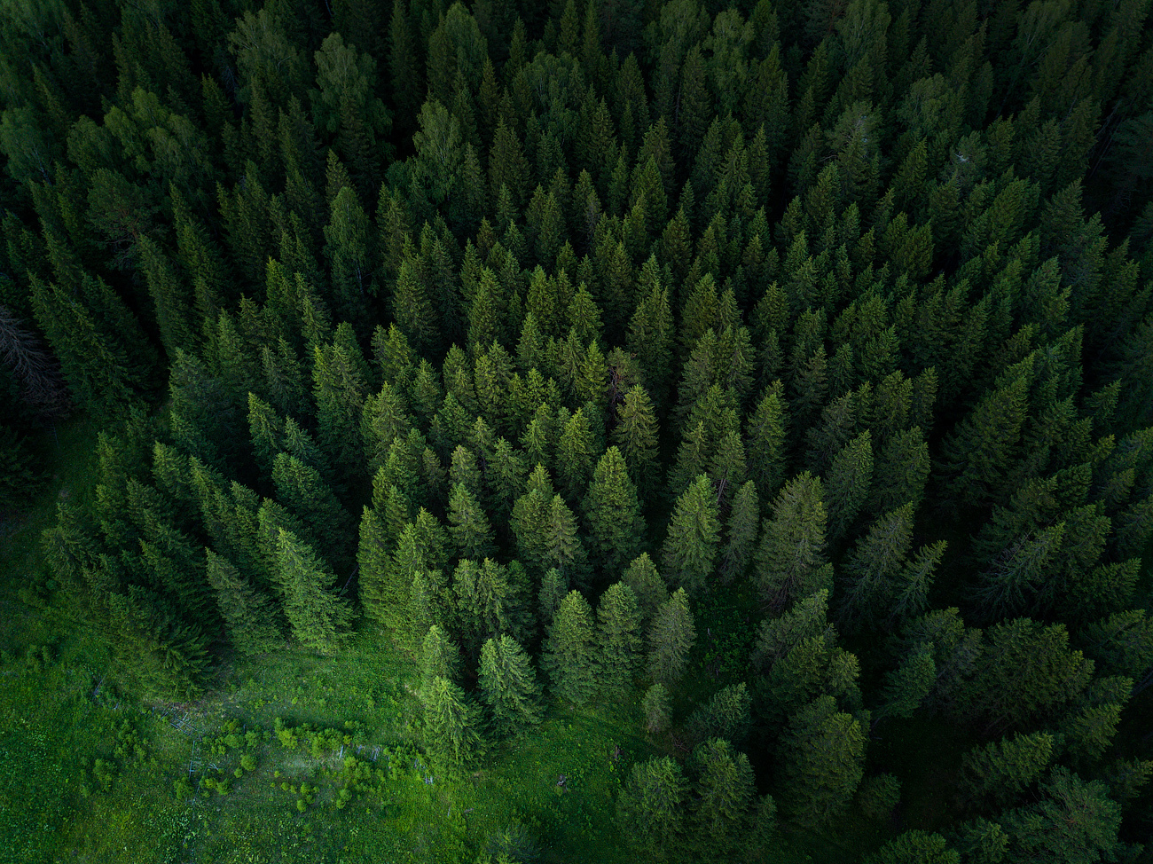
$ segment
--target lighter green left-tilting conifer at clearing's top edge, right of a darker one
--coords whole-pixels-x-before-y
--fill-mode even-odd
[[[293,638],[308,648],[331,652],[352,621],[352,609],[331,592],[334,574],[307,543],[284,528],[277,533],[276,564]]]

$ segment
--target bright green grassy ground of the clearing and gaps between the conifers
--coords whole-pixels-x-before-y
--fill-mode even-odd
[[[414,666],[372,628],[336,658],[225,660],[195,703],[116,692],[97,640],[37,588],[39,535],[56,502],[95,494],[95,438],[75,419],[42,442],[52,481],[0,526],[0,864],[473,862],[525,837],[541,862],[633,857],[613,801],[630,765],[658,750],[634,704],[555,707],[530,736],[445,773],[415,746]],[[689,694],[739,676],[751,603],[730,592],[702,607]],[[937,746],[941,730],[902,737]],[[907,821],[937,821],[940,779],[917,775],[915,749],[896,751],[903,780],[915,779],[903,797],[922,802]],[[204,779],[221,782],[206,789]],[[768,859],[851,861],[888,836],[850,819],[836,836],[783,834]]]

